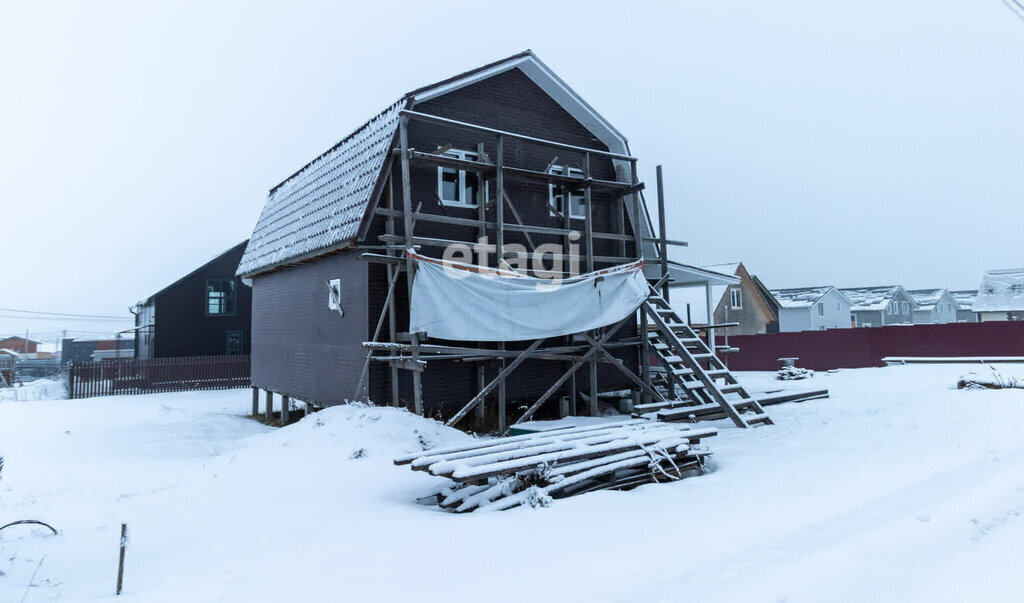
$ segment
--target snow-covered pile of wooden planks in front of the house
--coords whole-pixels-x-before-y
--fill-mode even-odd
[[[631,419],[423,450],[394,464],[454,481],[427,502],[456,513],[498,511],[702,472],[711,453],[698,444],[717,433]]]

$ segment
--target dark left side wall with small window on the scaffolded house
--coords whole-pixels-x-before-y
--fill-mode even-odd
[[[344,317],[328,307],[341,278]],[[366,352],[367,263],[336,254],[253,278],[253,385],[317,404],[355,393]]]

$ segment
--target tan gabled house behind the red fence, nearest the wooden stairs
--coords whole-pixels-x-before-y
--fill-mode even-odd
[[[717,335],[761,335],[778,330],[776,302],[770,294],[765,295],[742,262],[701,266],[701,269],[734,277],[728,285],[711,289],[715,325],[739,322],[737,327],[717,330]],[[703,290],[682,290],[678,296],[672,295],[672,305],[681,316],[685,317],[688,309],[692,325],[707,325],[708,301]]]

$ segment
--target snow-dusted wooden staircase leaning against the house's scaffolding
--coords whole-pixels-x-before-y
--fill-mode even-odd
[[[657,331],[642,333],[665,370],[670,401],[639,404],[638,412],[680,408],[682,414],[697,412],[725,415],[736,427],[772,425],[764,407],[751,396],[722,360],[690,329],[653,287],[642,306]],[[702,362],[707,362],[707,368]],[[718,380],[723,384],[719,385]],[[681,390],[685,398],[676,399]],[[696,413],[694,413],[696,414]]]

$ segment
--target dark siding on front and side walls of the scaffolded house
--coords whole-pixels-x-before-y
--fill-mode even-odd
[[[443,96],[418,104],[416,111],[431,113],[456,120],[475,123],[492,128],[509,130],[540,138],[546,138],[591,148],[606,147],[583,125],[518,70],[495,76],[477,84],[467,86]],[[456,148],[475,150],[478,142],[484,143],[485,152],[492,159],[497,148],[494,137],[481,136],[444,127],[415,123],[410,129],[411,145],[420,150],[433,150],[438,146],[452,144]],[[550,148],[506,141],[506,163],[516,167],[544,170],[555,156],[558,165],[584,166],[584,157],[567,152],[553,152]],[[591,164],[595,178],[614,180],[615,170],[610,160],[594,158]],[[400,170],[395,163],[394,204],[401,207]],[[548,210],[548,185],[543,182],[527,181],[513,177],[506,178],[509,197],[516,205],[522,219],[527,224],[563,227],[560,218]],[[475,218],[477,210],[465,208],[441,208],[437,198],[436,167],[413,164],[412,172],[413,206],[422,204],[422,212]],[[386,199],[387,191],[384,197]],[[495,201],[495,187],[489,185],[489,197]],[[382,201],[382,205],[386,202]],[[624,228],[622,204],[606,190],[595,188],[593,196],[595,231],[616,232]],[[506,221],[513,222],[510,211],[505,212]],[[487,219],[494,220],[494,205],[487,210]],[[401,221],[396,220],[397,232],[401,232]],[[582,220],[572,220],[571,226],[581,232]],[[384,233],[384,221],[375,219],[365,242],[379,245],[378,235]],[[416,232],[424,236],[473,242],[476,227],[452,226],[421,221]],[[490,232],[492,242],[494,233]],[[562,244],[562,236],[532,235],[537,245],[544,243]],[[506,243],[526,245],[525,236],[506,233]],[[581,242],[582,244],[582,242]],[[597,255],[618,256],[623,260],[632,259],[632,244],[599,241],[595,244]],[[424,250],[428,255],[439,256],[439,248]],[[354,391],[366,357],[360,343],[369,339],[376,327],[387,294],[388,282],[385,268],[370,265],[356,259],[357,252],[329,256],[307,264],[279,269],[254,279],[254,326],[253,326],[253,383],[259,387],[288,393],[298,399],[309,399],[317,403],[333,404],[344,401]],[[620,261],[610,263],[621,263]],[[494,258],[492,257],[492,264]],[[597,267],[607,264],[598,264]],[[586,269],[586,266],[581,266]],[[343,273],[342,273],[343,272]],[[346,318],[339,320],[336,314],[327,311],[327,289],[325,282],[332,274],[341,274],[346,284]],[[361,281],[358,278],[361,277]],[[359,290],[352,290],[359,283]],[[398,331],[408,330],[408,290],[406,277],[398,279],[395,291],[397,303]],[[357,309],[358,308],[358,309]],[[571,314],[572,308],[551,308],[552,312]],[[354,312],[361,312],[356,314]],[[349,321],[351,318],[351,321]],[[620,331],[620,338],[636,337],[635,325],[628,325]],[[385,324],[384,337],[386,339]],[[444,343],[431,340],[430,343]],[[457,342],[458,343],[458,342]],[[566,343],[564,338],[550,342]],[[475,345],[475,344],[467,344]],[[509,346],[523,348],[525,344]],[[625,364],[636,371],[638,358],[633,348],[616,352]],[[423,399],[428,415],[449,416],[478,391],[475,362],[454,362],[450,360],[429,360],[423,373]],[[531,360],[523,363],[508,382],[509,410],[518,414],[518,403],[530,403],[566,370],[567,362]],[[487,379],[493,379],[499,367],[497,362],[486,364]],[[387,385],[388,369],[375,363],[370,379],[371,398],[379,403],[388,403],[390,388]],[[408,371],[399,371],[399,400],[412,400],[412,378]],[[577,373],[578,388],[588,389],[587,369]],[[623,389],[631,382],[614,368],[601,364],[599,382],[602,390]],[[563,389],[567,392],[567,386]],[[582,407],[582,406],[581,406]],[[557,408],[552,401],[548,408]]]

